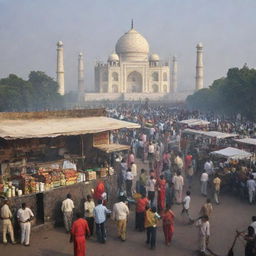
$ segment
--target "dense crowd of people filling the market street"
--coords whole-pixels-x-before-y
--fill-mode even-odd
[[[76,206],[70,194],[62,202],[63,221],[70,241],[74,243],[74,255],[82,256],[86,252],[86,238],[93,236],[96,227],[96,238],[100,243],[106,243],[106,221],[108,216],[117,225],[117,236],[120,241],[127,239],[127,220],[135,211],[134,227],[138,232],[144,232],[146,244],[155,249],[157,227],[162,224],[165,244],[171,245],[174,234],[175,216],[172,211],[174,204],[180,205],[180,215],[185,223],[195,225],[199,234],[199,251],[207,252],[210,239],[210,225],[213,214],[213,203],[221,203],[220,191],[223,179],[215,171],[213,161],[209,156],[204,162],[199,162],[196,152],[183,150],[181,127],[178,121],[189,118],[204,118],[211,121],[211,128],[223,132],[236,132],[242,135],[256,135],[256,124],[225,120],[212,115],[201,115],[168,105],[133,104],[108,106],[111,117],[141,124],[138,130],[123,130],[112,132],[111,142],[130,145],[128,154],[117,154],[115,162],[117,174],[118,200],[112,209],[107,207],[107,195],[104,183],[99,182],[95,190],[86,198],[84,213],[78,212],[74,219]],[[201,160],[200,160],[201,161]],[[139,165],[144,167],[139,170]],[[224,166],[222,166],[224,168]],[[253,171],[253,170],[252,170]],[[198,209],[198,215],[192,216],[190,206],[192,190],[195,190],[196,179],[200,182],[200,193],[205,197],[205,203]],[[256,183],[252,172],[244,177],[244,188],[248,200],[255,203]],[[135,205],[135,207],[133,207]],[[15,244],[13,228],[10,219],[11,211],[7,201],[1,208],[3,220],[3,242],[7,243],[6,234],[10,234],[11,242]],[[18,211],[17,218],[21,227],[21,243],[28,246],[30,237],[30,222],[32,211],[25,204]],[[131,217],[130,217],[131,218]],[[256,217],[248,227],[247,232],[239,232],[246,241],[245,255],[255,255],[256,250]]]

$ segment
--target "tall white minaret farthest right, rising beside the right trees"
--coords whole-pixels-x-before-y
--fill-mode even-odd
[[[198,91],[204,88],[204,64],[203,64],[203,44],[196,46],[196,88]]]

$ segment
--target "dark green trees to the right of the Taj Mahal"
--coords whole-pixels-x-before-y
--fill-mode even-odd
[[[246,65],[228,70],[227,77],[187,97],[187,105],[202,112],[235,116],[240,113],[256,120],[256,70]]]

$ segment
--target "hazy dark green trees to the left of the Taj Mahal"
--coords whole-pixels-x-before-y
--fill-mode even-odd
[[[58,84],[44,72],[32,71],[29,79],[10,74],[0,80],[0,111],[60,109],[63,97]]]

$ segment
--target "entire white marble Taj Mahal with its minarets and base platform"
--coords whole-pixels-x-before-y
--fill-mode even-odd
[[[197,45],[195,89],[203,88],[202,44]],[[97,100],[176,100],[182,101],[188,92],[178,91],[177,59],[164,62],[150,52],[146,38],[134,27],[116,42],[106,62],[97,61],[94,67],[95,90],[86,93],[84,86],[83,54],[78,56],[79,101]],[[63,43],[57,43],[57,82],[59,93],[64,94]]]

